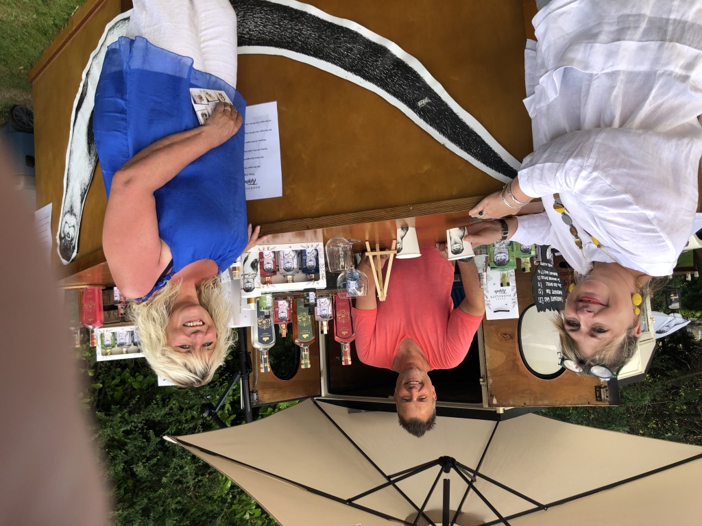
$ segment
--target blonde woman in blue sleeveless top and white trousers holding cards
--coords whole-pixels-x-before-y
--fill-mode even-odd
[[[117,287],[136,299],[150,365],[199,386],[230,344],[218,276],[258,236],[246,222],[236,15],[226,0],[137,0],[131,32],[108,48],[95,94],[103,248]],[[199,126],[190,88],[223,90],[233,104]]]

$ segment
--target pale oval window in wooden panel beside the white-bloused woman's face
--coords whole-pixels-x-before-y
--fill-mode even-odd
[[[565,370],[558,363],[560,339],[552,323],[554,315],[555,311],[539,312],[536,304],[532,304],[519,316],[517,327],[519,356],[524,367],[543,380],[557,378]]]

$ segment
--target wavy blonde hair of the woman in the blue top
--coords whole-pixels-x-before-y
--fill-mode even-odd
[[[197,285],[197,297],[212,318],[217,339],[206,358],[200,354],[180,353],[166,342],[166,325],[178,292],[180,282],[168,281],[147,302],[131,304],[130,316],[139,332],[146,360],[154,372],[180,387],[199,387],[212,379],[229,351],[232,342],[230,304],[219,277]]]

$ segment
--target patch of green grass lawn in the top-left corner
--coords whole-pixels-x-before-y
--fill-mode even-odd
[[[0,0],[0,123],[13,104],[32,105],[29,69],[85,0]]]

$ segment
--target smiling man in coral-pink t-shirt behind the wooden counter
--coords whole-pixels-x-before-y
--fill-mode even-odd
[[[427,373],[463,361],[485,314],[474,262],[458,262],[465,299],[453,309],[453,264],[435,248],[421,252],[392,263],[385,302],[377,302],[371,279],[368,295],[353,309],[359,360],[399,373],[392,398],[400,425],[415,436],[436,419],[437,395]],[[359,268],[371,276],[365,260]]]

